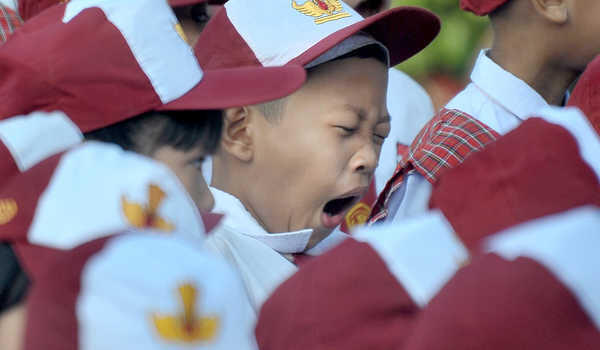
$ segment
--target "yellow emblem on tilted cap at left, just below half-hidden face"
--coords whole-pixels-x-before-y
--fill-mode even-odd
[[[158,208],[165,197],[165,192],[154,184],[150,184],[148,187],[148,205],[130,202],[125,196],[121,196],[121,206],[129,224],[137,228],[173,231],[175,226],[158,214]]]

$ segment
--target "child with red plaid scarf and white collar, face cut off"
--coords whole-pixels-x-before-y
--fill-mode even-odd
[[[370,223],[401,221],[427,210],[442,169],[462,162],[528,116],[563,105],[565,92],[600,52],[593,38],[600,3],[547,0],[462,0],[489,15],[492,48],[483,50],[471,83],[415,138],[409,157],[380,194]]]

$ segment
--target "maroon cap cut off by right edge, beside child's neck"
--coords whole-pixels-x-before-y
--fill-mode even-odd
[[[600,135],[600,56],[588,64],[577,81],[567,103],[586,115],[596,133]]]

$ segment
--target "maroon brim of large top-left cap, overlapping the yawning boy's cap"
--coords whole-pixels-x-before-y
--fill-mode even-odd
[[[269,102],[296,91],[305,80],[306,71],[297,65],[207,70],[196,87],[157,109],[224,109]]]

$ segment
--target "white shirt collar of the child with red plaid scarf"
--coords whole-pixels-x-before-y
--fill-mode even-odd
[[[479,53],[471,73],[475,86],[521,120],[548,105],[531,86],[492,61],[488,52]]]

